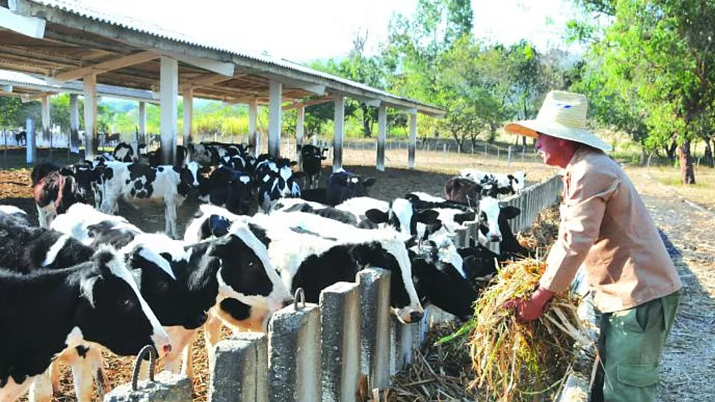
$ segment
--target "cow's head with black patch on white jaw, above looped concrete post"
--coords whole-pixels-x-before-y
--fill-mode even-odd
[[[220,267],[218,301],[225,318],[237,327],[265,331],[272,313],[292,301],[268,259],[266,246],[246,222],[234,222],[206,256],[206,263]]]

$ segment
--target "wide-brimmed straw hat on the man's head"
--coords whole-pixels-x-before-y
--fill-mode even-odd
[[[504,126],[504,130],[526,137],[538,137],[538,132],[541,132],[551,137],[569,139],[603,151],[610,151],[610,145],[586,128],[586,112],[588,112],[588,99],[585,95],[551,91],[546,94],[546,99],[543,99],[536,119],[508,123]]]

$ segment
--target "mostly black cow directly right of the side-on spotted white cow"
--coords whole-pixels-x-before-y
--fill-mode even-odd
[[[255,209],[255,182],[248,173],[220,166],[211,172],[206,187],[208,194],[204,197],[208,197],[212,205],[240,215],[248,215]]]

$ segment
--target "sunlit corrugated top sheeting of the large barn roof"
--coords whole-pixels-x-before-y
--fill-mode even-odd
[[[320,72],[315,69],[311,69],[310,67],[305,67],[301,64],[297,64],[295,62],[290,62],[289,60],[286,59],[280,59],[277,57],[270,57],[264,54],[254,54],[252,52],[246,52],[244,49],[236,49],[231,46],[226,46],[225,44],[211,44],[207,43],[207,41],[199,41],[199,39],[192,38],[191,36],[187,36],[184,34],[180,34],[178,32],[174,31],[169,31],[167,29],[162,28],[161,26],[157,26],[155,24],[150,24],[147,23],[146,21],[140,21],[139,19],[134,19],[130,16],[123,16],[119,15],[116,13],[109,13],[107,11],[101,11],[99,9],[94,9],[92,7],[87,6],[87,4],[82,3],[81,1],[77,0],[27,0],[35,4],[41,4],[43,6],[48,6],[52,7],[54,9],[60,9],[62,11],[66,11],[70,14],[75,14],[77,16],[82,16],[87,19],[91,19],[94,21],[99,21],[104,24],[110,24],[114,26],[119,26],[124,29],[129,29],[132,31],[137,31],[142,34],[149,34],[152,36],[157,36],[158,38],[162,39],[169,39],[172,41],[177,41],[182,44],[187,44],[190,46],[197,46],[202,49],[209,49],[213,50],[216,52],[225,52],[228,54],[233,54],[238,57],[245,57],[247,59],[253,59],[257,62],[262,62],[266,64],[273,64],[277,67],[283,67],[285,69],[292,69],[297,72],[301,72],[303,74],[309,74],[314,77],[320,77],[322,79],[328,79],[333,82],[337,82],[343,85],[347,85],[350,87],[354,87],[356,89],[360,89],[365,92],[371,92],[376,95],[380,95],[382,97],[387,97],[395,100],[400,100],[402,102],[409,102],[411,104],[414,104],[415,107],[425,107],[428,109],[436,109],[439,110],[438,107],[432,106],[430,104],[425,104],[423,102],[418,102],[413,99],[408,99],[405,97],[398,97],[394,94],[390,94],[389,92],[385,92],[382,89],[377,89],[373,87],[369,87],[368,85],[361,84],[360,82],[355,82],[351,81],[350,79],[344,79],[341,77],[337,77],[332,74],[327,74],[325,72]]]

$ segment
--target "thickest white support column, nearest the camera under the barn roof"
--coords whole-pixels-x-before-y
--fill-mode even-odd
[[[162,164],[175,162],[175,142],[177,137],[177,97],[179,95],[179,62],[162,56],[159,78],[159,102],[162,105]]]

